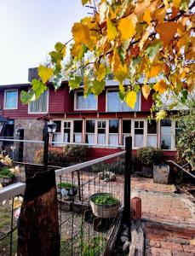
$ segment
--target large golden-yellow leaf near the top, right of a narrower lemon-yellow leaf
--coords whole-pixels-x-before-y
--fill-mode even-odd
[[[128,16],[119,20],[118,31],[122,40],[127,40],[135,35],[135,17]]]

